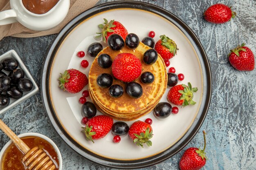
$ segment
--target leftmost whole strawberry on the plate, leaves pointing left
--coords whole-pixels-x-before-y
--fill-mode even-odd
[[[59,80],[61,89],[69,93],[78,93],[88,84],[86,75],[73,68],[64,71]]]

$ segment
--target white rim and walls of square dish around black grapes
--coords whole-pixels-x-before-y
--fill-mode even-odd
[[[6,112],[7,110],[17,106],[22,101],[24,101],[24,100],[28,99],[29,97],[35,95],[39,91],[39,88],[36,85],[36,82],[34,81],[33,77],[31,76],[31,74],[27,70],[26,66],[24,65],[24,63],[22,62],[22,60],[20,59],[20,57],[18,56],[16,51],[10,50],[10,51],[4,53],[3,55],[0,56],[0,61],[4,60],[4,58],[8,58],[8,57],[15,58],[18,61],[19,66],[18,66],[17,69],[22,69],[24,71],[25,77],[30,79],[31,82],[33,83],[33,89],[30,92],[28,92],[28,93],[23,93],[23,96],[20,97],[19,99],[12,99],[12,98],[10,98],[10,104],[8,106],[6,106],[5,108],[0,108],[0,114],[2,114],[4,112]],[[9,74],[9,72],[7,72],[7,71],[4,71],[4,70],[2,70],[2,71],[4,73],[6,73],[7,75]]]

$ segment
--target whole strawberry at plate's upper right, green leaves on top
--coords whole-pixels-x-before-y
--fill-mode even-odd
[[[165,35],[161,35],[160,38],[161,40],[155,43],[155,50],[164,60],[169,60],[177,53],[177,45]]]

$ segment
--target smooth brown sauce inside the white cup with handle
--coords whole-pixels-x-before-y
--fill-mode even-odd
[[[32,13],[44,14],[50,11],[59,0],[22,0],[24,7]]]

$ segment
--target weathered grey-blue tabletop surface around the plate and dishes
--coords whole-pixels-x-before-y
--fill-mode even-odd
[[[110,0],[100,0],[98,4]],[[179,169],[178,162],[189,147],[203,145],[202,130],[207,131],[208,160],[204,170],[254,170],[256,167],[256,69],[236,71],[228,62],[229,50],[245,42],[256,54],[255,0],[144,0],[171,11],[198,35],[211,64],[213,93],[211,106],[200,132],[177,155],[143,170]],[[202,13],[215,3],[226,3],[238,17],[226,24],[211,24]],[[40,72],[47,48],[56,35],[38,38],[7,37],[0,41],[0,55],[14,49],[40,86]],[[0,115],[16,134],[38,132],[53,139],[63,156],[63,170],[110,170],[74,152],[47,119],[38,93]],[[9,141],[0,131],[0,149]]]

